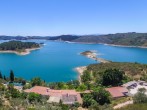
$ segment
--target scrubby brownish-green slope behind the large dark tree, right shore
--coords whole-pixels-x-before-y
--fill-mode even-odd
[[[124,71],[125,74],[131,79],[147,80],[147,65],[139,63],[127,63],[127,62],[110,62],[91,64],[87,67],[87,72],[92,73],[95,78],[99,77],[101,73],[107,69],[119,69]]]

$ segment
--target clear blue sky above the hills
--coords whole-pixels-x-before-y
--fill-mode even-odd
[[[0,0],[0,35],[147,32],[147,0]]]

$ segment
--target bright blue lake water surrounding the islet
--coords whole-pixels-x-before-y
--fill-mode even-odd
[[[3,42],[3,41],[1,41]],[[96,63],[94,60],[79,55],[86,50],[97,50],[101,58],[118,62],[139,62],[147,64],[147,49],[114,47],[103,44],[77,44],[52,41],[39,50],[26,56],[10,53],[0,54],[0,71],[9,76],[12,69],[17,77],[27,80],[41,77],[47,82],[70,81],[77,79],[75,67]]]

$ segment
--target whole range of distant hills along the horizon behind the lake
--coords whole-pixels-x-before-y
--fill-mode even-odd
[[[29,40],[45,39],[56,41],[70,41],[79,43],[104,43],[123,46],[147,47],[147,33],[116,33],[107,35],[61,35],[61,36],[0,36],[0,40]]]

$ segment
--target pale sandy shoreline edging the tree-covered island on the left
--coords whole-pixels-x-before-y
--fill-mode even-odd
[[[24,56],[24,55],[30,54],[31,51],[33,51],[33,50],[38,50],[38,49],[40,49],[40,47],[39,47],[39,48],[25,49],[25,52],[17,52],[17,51],[13,51],[13,50],[7,50],[7,51],[2,51],[2,50],[1,50],[1,51],[0,51],[0,54],[1,54],[1,53],[14,53],[14,54],[17,54],[17,55]]]

